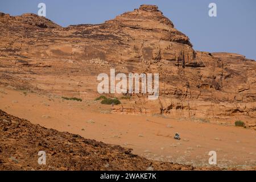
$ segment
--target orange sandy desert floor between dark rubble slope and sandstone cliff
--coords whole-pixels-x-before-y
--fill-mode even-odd
[[[0,87],[0,109],[34,124],[133,148],[147,159],[209,166],[208,153],[216,151],[221,168],[256,169],[253,129],[162,115],[111,114],[111,108],[100,101],[67,101]],[[174,133],[181,140],[175,140]]]

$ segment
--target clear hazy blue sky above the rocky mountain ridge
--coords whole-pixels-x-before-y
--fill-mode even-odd
[[[0,12],[37,14],[40,2],[46,3],[46,18],[61,26],[103,23],[139,5],[157,5],[189,36],[196,50],[234,52],[256,59],[255,0],[1,0]],[[217,17],[208,16],[210,2],[217,4]]]

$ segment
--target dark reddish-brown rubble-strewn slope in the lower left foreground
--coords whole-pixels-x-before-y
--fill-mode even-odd
[[[209,170],[147,160],[131,149],[33,125],[0,110],[0,170]],[[46,152],[46,165],[38,152]]]

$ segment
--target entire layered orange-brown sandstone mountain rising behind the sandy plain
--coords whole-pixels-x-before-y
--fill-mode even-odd
[[[97,75],[159,73],[159,99],[133,94],[113,112],[168,114],[206,122],[256,121],[256,63],[195,51],[157,6],[102,24],[60,27],[34,14],[0,14],[1,84],[93,99]]]

